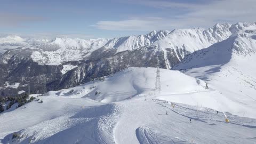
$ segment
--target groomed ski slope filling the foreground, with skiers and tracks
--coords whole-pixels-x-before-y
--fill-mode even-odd
[[[179,103],[173,108],[170,102],[151,98],[148,96],[146,101],[144,97],[132,98],[105,105],[95,102],[92,107],[93,102],[86,99],[82,105],[73,98],[49,96],[46,98],[49,101],[44,98],[42,103],[48,109],[65,101],[73,105],[68,109],[64,107],[66,112],[56,115],[44,113],[46,108],[33,109],[33,105],[40,104],[32,102],[26,107],[30,113],[20,113],[26,118],[21,118],[19,125],[1,126],[1,131],[4,126],[6,133],[11,133],[11,127],[19,135],[12,139],[13,134],[9,134],[2,143],[255,143],[255,119],[227,113],[231,123],[226,123],[223,114],[217,115],[215,110]],[[32,117],[31,113],[43,113],[48,119]],[[13,119],[9,118],[11,122]],[[21,124],[24,129],[19,127]]]

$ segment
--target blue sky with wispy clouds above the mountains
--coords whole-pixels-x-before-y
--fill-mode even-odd
[[[113,38],[256,22],[255,0],[0,0],[0,35]]]

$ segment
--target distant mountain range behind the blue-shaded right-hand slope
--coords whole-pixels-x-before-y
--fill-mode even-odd
[[[240,45],[250,44],[244,41],[254,41],[253,35],[251,39],[247,38],[254,33],[254,25],[217,23],[208,29],[159,30],[146,35],[110,39],[54,38],[49,42],[9,50],[1,55],[0,63],[3,66],[0,70],[3,73],[0,81],[3,84],[14,83],[19,77],[23,79],[23,82],[19,82],[24,85],[30,81],[39,82],[44,77],[47,85],[44,87],[56,90],[114,74],[127,67],[159,66],[170,69],[190,53],[202,52],[202,49],[219,42],[233,41],[231,39],[238,36],[244,40],[236,44],[237,49]],[[250,47],[253,48],[253,45]],[[251,51],[254,50],[248,49],[247,53]],[[33,89],[42,90],[42,84],[34,86]]]

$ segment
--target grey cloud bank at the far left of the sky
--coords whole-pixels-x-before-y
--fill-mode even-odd
[[[45,18],[34,17],[29,15],[21,15],[17,13],[3,13],[0,12],[0,26],[20,26],[25,22],[36,22],[36,21],[45,21]]]

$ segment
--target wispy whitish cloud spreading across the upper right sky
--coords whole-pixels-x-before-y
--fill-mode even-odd
[[[134,2],[130,0],[128,2]],[[159,9],[178,9],[181,14],[158,19],[137,17],[120,21],[99,21],[94,27],[105,30],[153,30],[190,27],[209,27],[217,22],[254,22],[255,0],[217,0],[209,3],[177,3],[141,0],[136,4]]]

